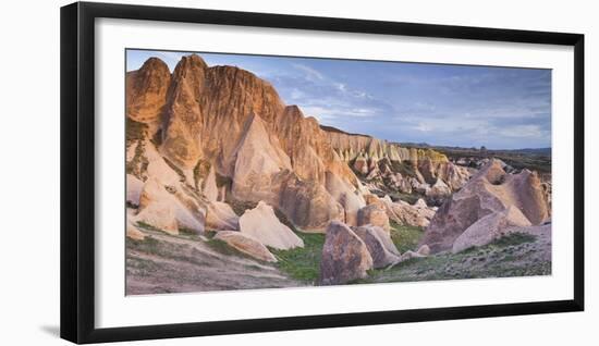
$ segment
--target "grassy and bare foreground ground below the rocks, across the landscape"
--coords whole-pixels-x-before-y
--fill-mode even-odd
[[[440,252],[380,270],[354,284],[531,276],[551,274],[550,226],[534,234],[515,233],[485,247],[459,254]],[[297,233],[304,248],[273,250],[267,263],[211,239],[210,235],[169,235],[143,228],[144,240],[126,239],[126,294],[313,286],[318,281],[323,234]],[[424,232],[392,224],[400,251],[415,250]]]

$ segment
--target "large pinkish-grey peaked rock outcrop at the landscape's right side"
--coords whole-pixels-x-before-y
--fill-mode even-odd
[[[548,217],[548,205],[536,173],[523,170],[508,174],[499,160],[490,160],[439,208],[421,243],[432,252],[454,246],[459,250],[484,245],[509,225],[538,225]]]

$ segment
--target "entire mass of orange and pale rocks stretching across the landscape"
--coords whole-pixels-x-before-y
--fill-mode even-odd
[[[171,74],[151,58],[127,73],[126,88],[126,234],[136,242],[140,226],[213,231],[274,263],[271,250],[304,247],[296,227],[326,233],[319,283],[341,284],[411,258],[538,233],[550,220],[550,188],[535,172],[488,160],[476,173],[429,148],[320,126],[237,67],[209,67],[192,54]],[[425,228],[419,249],[400,254],[393,224]]]

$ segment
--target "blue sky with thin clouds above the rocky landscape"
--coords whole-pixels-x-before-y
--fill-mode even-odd
[[[127,51],[171,72],[190,52]],[[391,141],[492,149],[551,147],[551,71],[402,62],[198,53],[269,81],[321,124]]]

